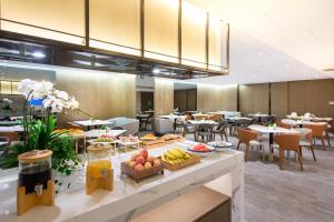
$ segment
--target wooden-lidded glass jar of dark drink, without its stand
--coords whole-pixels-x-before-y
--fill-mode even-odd
[[[33,150],[22,153],[19,160],[19,186],[26,186],[26,193],[42,194],[51,180],[50,150]]]

